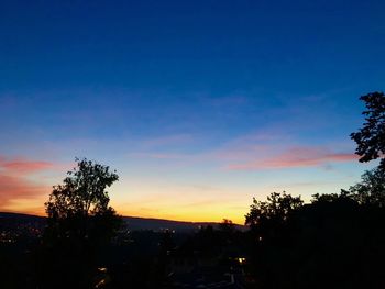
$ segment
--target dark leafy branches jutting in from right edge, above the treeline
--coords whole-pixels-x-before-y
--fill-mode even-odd
[[[381,166],[385,168],[385,95],[371,92],[362,96],[366,110],[363,127],[350,136],[358,144],[355,153],[361,156],[360,162],[370,162],[382,158]]]

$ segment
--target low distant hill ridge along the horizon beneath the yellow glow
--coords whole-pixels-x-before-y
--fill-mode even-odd
[[[215,222],[182,222],[182,221],[172,221],[172,220],[162,220],[162,219],[148,219],[148,218],[139,218],[139,216],[122,216],[127,222],[130,231],[138,230],[152,230],[152,231],[164,231],[170,230],[176,232],[195,232],[201,226],[211,225],[215,229],[219,226],[219,223]],[[9,213],[0,212],[0,229],[9,226],[18,226],[26,223],[40,224],[41,226],[45,225],[46,218],[37,216],[31,214],[21,214],[21,213]],[[238,230],[245,230],[243,225],[235,225]]]

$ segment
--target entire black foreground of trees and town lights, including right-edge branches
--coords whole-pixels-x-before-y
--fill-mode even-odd
[[[245,231],[230,220],[130,231],[109,207],[118,175],[78,160],[51,193],[46,223],[0,221],[0,288],[385,288],[385,96],[362,100],[366,122],[351,137],[378,167],[309,203],[254,199]]]

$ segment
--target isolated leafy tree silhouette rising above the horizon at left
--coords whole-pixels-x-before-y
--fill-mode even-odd
[[[121,225],[106,189],[119,179],[108,166],[76,159],[63,185],[54,187],[44,233],[42,287],[91,288],[102,251]]]

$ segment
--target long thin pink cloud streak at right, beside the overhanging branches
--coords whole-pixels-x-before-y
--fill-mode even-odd
[[[329,163],[343,163],[356,160],[358,156],[351,153],[333,153],[326,148],[293,147],[276,156],[262,158],[243,164],[232,164],[228,169],[253,170],[253,169],[279,169],[296,167],[315,167]]]

